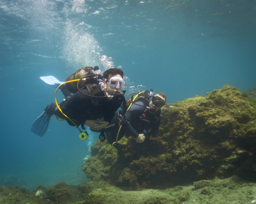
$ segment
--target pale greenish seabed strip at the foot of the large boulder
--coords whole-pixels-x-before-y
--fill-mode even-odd
[[[98,188],[88,194],[84,204],[92,203],[143,203],[143,204],[179,204],[179,203],[254,203],[256,184],[246,183],[233,176],[228,179],[205,180],[195,182],[195,187],[176,186],[166,190],[140,189],[123,191],[115,186]]]

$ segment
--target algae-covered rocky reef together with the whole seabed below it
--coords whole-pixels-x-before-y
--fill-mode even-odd
[[[96,141],[82,168],[92,181],[0,186],[0,203],[256,203],[256,90],[226,85],[169,106],[152,140]]]

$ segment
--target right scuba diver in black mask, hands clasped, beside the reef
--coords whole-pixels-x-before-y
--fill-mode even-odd
[[[150,100],[150,98],[152,99]],[[130,106],[126,112],[126,118],[123,117],[124,113],[121,110],[115,114],[110,124],[103,128],[108,143],[116,146],[116,142],[126,133],[132,135],[138,143],[142,143],[144,140],[151,140],[159,129],[162,117],[161,108],[168,106],[165,104],[166,99],[165,94],[162,92],[158,92],[153,96],[152,89],[137,93],[132,98],[129,98],[127,107]],[[91,130],[97,132],[96,130]],[[104,139],[102,138],[101,141],[104,141]]]

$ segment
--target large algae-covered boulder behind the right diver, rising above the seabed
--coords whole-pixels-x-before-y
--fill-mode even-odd
[[[83,171],[122,189],[165,189],[204,179],[256,179],[256,91],[225,85],[169,104],[157,137],[116,147],[99,140]],[[165,113],[166,109],[162,109]]]

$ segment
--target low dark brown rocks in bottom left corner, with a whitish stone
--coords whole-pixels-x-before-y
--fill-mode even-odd
[[[2,204],[71,204],[84,203],[89,193],[97,188],[109,186],[104,181],[89,181],[80,186],[68,186],[60,182],[49,188],[38,186],[35,191],[29,192],[18,186],[0,186],[0,203]]]

